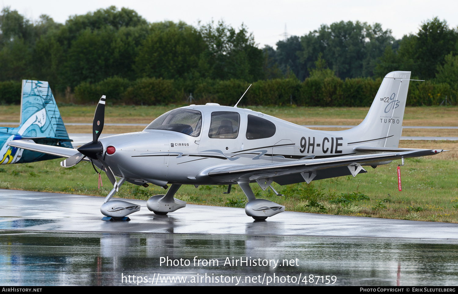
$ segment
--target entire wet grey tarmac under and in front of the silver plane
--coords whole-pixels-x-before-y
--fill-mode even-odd
[[[458,283],[457,224],[128,201],[142,209],[110,222],[101,197],[0,189],[0,284]]]

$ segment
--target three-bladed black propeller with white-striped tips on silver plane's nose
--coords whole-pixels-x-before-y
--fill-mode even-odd
[[[105,95],[100,98],[100,101],[95,108],[94,120],[92,123],[92,141],[82,145],[77,150],[79,153],[67,158],[66,160],[60,162],[60,165],[63,167],[75,166],[80,162],[84,157],[89,157],[91,159],[99,160],[102,163],[102,170],[108,176],[108,179],[113,184],[113,187],[118,191],[118,183],[114,177],[113,171],[108,166],[108,164],[103,160],[102,154],[104,153],[104,146],[98,140],[102,130],[104,129],[104,120],[105,120]]]

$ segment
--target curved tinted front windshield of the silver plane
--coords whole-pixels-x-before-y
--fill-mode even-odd
[[[174,131],[192,137],[200,135],[202,113],[192,109],[174,109],[153,120],[145,129]]]

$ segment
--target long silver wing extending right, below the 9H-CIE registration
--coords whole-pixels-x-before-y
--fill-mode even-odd
[[[373,150],[375,151],[375,150]],[[298,174],[303,172],[313,172],[326,170],[336,167],[371,166],[371,163],[382,161],[396,160],[401,158],[420,157],[435,155],[441,153],[442,149],[436,150],[409,150],[402,152],[388,152],[369,155],[347,155],[322,159],[305,159],[289,162],[274,162],[253,165],[240,165],[229,167],[218,167],[208,172],[208,176],[222,181],[235,180],[258,180],[275,177]],[[445,150],[447,151],[447,150]],[[374,164],[376,165],[376,164]],[[274,180],[275,181],[275,180]]]

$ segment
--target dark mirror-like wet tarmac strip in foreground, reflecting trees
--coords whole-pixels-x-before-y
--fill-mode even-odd
[[[456,285],[458,241],[397,238],[343,238],[281,235],[182,235],[3,231],[0,283],[3,285],[270,285],[301,276],[335,276],[334,285]],[[160,257],[188,259],[190,266],[160,265]],[[218,266],[194,266],[193,259]],[[298,260],[299,266],[229,266],[232,260]],[[170,264],[170,263],[169,263]],[[158,273],[160,276],[158,277]],[[122,279],[122,277],[131,276]],[[205,275],[210,278],[205,281]],[[135,276],[133,278],[132,276]],[[261,277],[253,280],[253,277]],[[142,277],[139,282],[137,277]],[[165,277],[179,277],[171,283]],[[192,282],[194,277],[195,283]],[[196,279],[197,277],[202,280]],[[216,282],[215,277],[229,277]],[[235,277],[235,279],[233,278]],[[248,278],[247,278],[248,277]],[[279,277],[284,277],[281,283]],[[156,279],[158,278],[158,279]],[[262,283],[262,278],[264,278]],[[218,279],[218,281],[221,278]],[[145,283],[146,282],[146,283]],[[330,281],[328,284],[332,284]],[[318,284],[325,284],[321,282]],[[298,284],[297,282],[295,284]],[[314,283],[316,284],[316,278]]]

